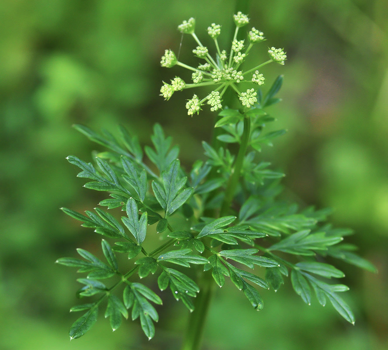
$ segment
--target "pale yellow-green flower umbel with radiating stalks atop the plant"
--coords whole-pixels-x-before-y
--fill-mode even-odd
[[[246,59],[246,56],[252,46],[255,43],[262,42],[266,39],[262,31],[253,27],[251,31],[248,32],[249,44],[248,41],[247,44],[245,44],[244,40],[237,40],[239,28],[246,26],[249,23],[249,18],[247,15],[237,12],[237,14],[233,15],[233,20],[236,24],[236,30],[234,32],[234,38],[232,40],[229,53],[227,50],[220,50],[217,38],[221,34],[221,26],[219,24],[212,23],[208,27],[207,32],[214,40],[217,50],[217,58],[213,59],[213,57],[209,54],[208,48],[202,45],[195,34],[195,19],[190,18],[187,21],[183,21],[183,23],[178,26],[178,30],[181,33],[189,34],[194,38],[197,46],[194,50],[192,50],[192,52],[196,57],[202,60],[202,62],[199,62],[197,68],[188,66],[187,64],[179,62],[174,52],[171,50],[165,50],[165,54],[161,59],[160,64],[163,67],[171,68],[177,65],[192,71],[191,78],[193,83],[191,84],[186,84],[179,77],[171,80],[171,84],[163,82],[164,85],[161,87],[160,92],[161,96],[163,96],[166,100],[170,99],[175,91],[215,85],[215,88],[210,92],[210,94],[207,94],[203,99],[199,99],[197,95],[194,95],[192,99],[188,100],[186,103],[187,114],[191,116],[194,113],[199,113],[201,106],[204,104],[208,104],[211,107],[211,111],[222,109],[222,96],[229,87],[236,91],[242,106],[251,108],[255,103],[257,103],[257,92],[254,88],[242,92],[239,90],[237,84],[241,81],[246,81],[244,80],[245,76],[251,73],[251,83],[263,85],[265,78],[262,73],[259,73],[258,69],[270,62],[284,64],[284,61],[287,58],[283,49],[275,49],[275,47],[271,47],[268,48],[268,55],[270,57],[268,61],[246,71],[239,70],[239,67]]]

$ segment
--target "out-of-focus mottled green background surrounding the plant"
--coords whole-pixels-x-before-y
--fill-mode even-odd
[[[189,73],[159,61],[165,49],[178,52],[176,28],[189,17],[200,39],[208,25],[222,24],[226,44],[234,7],[232,0],[0,2],[1,350],[179,348],[188,312],[167,292],[158,292],[166,301],[151,341],[138,321],[112,333],[100,315],[87,335],[69,342],[79,315],[68,310],[80,285],[73,269],[54,262],[78,247],[100,254],[100,237],[58,208],[91,209],[105,194],[83,188],[65,157],[90,161],[91,151],[102,150],[73,123],[111,132],[123,123],[149,144],[158,121],[181,145],[183,164],[199,158],[214,116],[208,108],[187,116],[192,91],[164,101],[162,80],[189,81]],[[227,284],[213,301],[204,349],[388,349],[388,2],[252,1],[249,17],[268,39],[251,51],[251,62],[261,62],[267,45],[288,55],[284,66],[262,71],[268,82],[285,76],[283,102],[270,112],[275,128],[289,130],[263,160],[287,174],[286,194],[302,207],[334,208],[331,221],[355,230],[348,241],[379,274],[339,266],[355,326],[331,306],[305,305],[289,281],[276,295],[260,291],[260,313]],[[190,64],[195,46],[184,36],[180,60]]]

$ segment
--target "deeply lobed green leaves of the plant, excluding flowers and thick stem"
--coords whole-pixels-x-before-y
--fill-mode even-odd
[[[225,135],[229,136],[221,135],[218,140],[230,143],[230,137],[234,137],[233,142],[241,144],[247,122],[250,123],[250,131],[244,142],[255,150],[260,150],[265,144],[270,145],[273,138],[282,135],[283,131],[263,133],[266,123],[274,120],[263,108],[277,101],[274,96],[279,91],[281,82],[282,77],[279,77],[263,97],[261,105],[256,104],[244,113],[224,109],[216,127],[223,128],[229,133]],[[191,267],[191,264],[203,265],[203,273],[211,273],[220,287],[225,284],[225,277],[229,277],[256,310],[262,309],[263,300],[250,283],[265,289],[271,286],[277,291],[284,283],[283,276],[288,276],[288,269],[291,269],[292,286],[303,301],[311,303],[313,290],[321,305],[329,300],[340,315],[354,323],[352,311],[337,295],[337,292],[348,288],[342,284],[328,284],[311,274],[336,279],[344,276],[329,262],[322,262],[326,256],[339,258],[365,269],[374,268],[355,255],[351,246],[338,244],[342,242],[343,236],[351,232],[332,229],[330,225],[319,225],[326,219],[329,211],[315,211],[313,208],[300,211],[296,204],[277,199],[281,192],[278,179],[283,174],[267,169],[269,163],[256,163],[255,151],[247,151],[240,156],[243,157],[240,158],[239,171],[242,185],[233,194],[229,209],[220,213],[213,208],[219,208],[226,200],[224,194],[230,186],[231,174],[237,171],[238,160],[226,146],[216,151],[203,142],[207,160],[194,163],[191,172],[186,175],[176,158],[178,147],[171,147],[171,137],[166,138],[161,126],[156,125],[151,137],[154,149],[148,146],[144,149],[144,153],[156,166],[157,170],[154,172],[144,165],[143,152],[137,139],[130,137],[125,128],[120,127],[119,139],[106,132],[105,136],[99,135],[83,126],[78,125],[76,128],[109,149],[109,153],[106,153],[108,161],[96,158],[97,168],[75,156],[69,156],[69,162],[81,168],[78,177],[93,180],[87,182],[85,187],[109,193],[111,198],[102,200],[100,205],[107,206],[108,210],[122,207],[126,216],[121,218],[125,225],[123,227],[111,213],[98,207],[95,208],[96,213],[86,211],[87,216],[62,208],[66,214],[83,222],[82,226],[93,228],[114,243],[112,247],[107,240],[102,239],[102,253],[107,263],[83,249],[78,249],[78,253],[85,260],[57,260],[62,265],[78,268],[77,272],[88,273],[87,279],[78,279],[85,284],[77,292],[80,298],[100,295],[95,303],[71,308],[72,311],[88,310],[74,322],[70,330],[71,338],[78,338],[90,329],[96,321],[100,302],[104,299],[107,300],[105,317],[110,317],[113,330],[120,326],[122,316],[128,317],[127,309],[132,308],[132,319],[140,317],[145,335],[148,338],[154,336],[153,322],[157,322],[159,316],[150,301],[157,304],[162,302],[145,285],[130,282],[129,279],[135,272],[140,278],[145,278],[159,270],[159,289],[164,291],[170,287],[174,298],[181,300],[193,311],[194,303],[191,298],[199,293],[200,288],[184,271],[167,266],[170,264],[184,268]],[[214,216],[205,217],[205,212]],[[173,228],[169,223],[171,215],[190,218],[190,221]],[[147,239],[147,225],[155,223],[156,232],[160,234],[168,230],[166,236],[171,237],[171,240],[147,253],[142,247]],[[135,241],[128,236],[125,228]],[[177,249],[168,250],[171,246]],[[246,248],[247,246],[251,248]],[[282,257],[275,255],[276,251],[281,252]],[[127,253],[129,259],[136,258],[140,253],[143,257],[137,258],[134,264],[131,263],[132,268],[121,272],[123,267],[119,266],[115,253]],[[284,253],[290,255],[290,261]],[[319,260],[318,256],[321,256]],[[293,263],[295,257],[299,261]],[[255,265],[266,268],[265,279],[241,269],[244,266],[253,269]],[[110,288],[99,282],[99,279],[111,277],[118,281]],[[123,300],[112,294],[122,283],[127,284],[123,291]]]

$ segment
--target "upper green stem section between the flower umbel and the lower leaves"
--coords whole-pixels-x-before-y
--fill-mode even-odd
[[[233,167],[232,176],[229,178],[228,185],[225,190],[225,197],[222,202],[220,217],[227,215],[230,204],[232,203],[234,192],[236,192],[237,183],[240,178],[242,163],[244,161],[244,156],[246,149],[248,147],[249,134],[251,132],[251,118],[244,118],[244,132],[242,133],[241,145],[239,152],[237,154],[236,161]]]

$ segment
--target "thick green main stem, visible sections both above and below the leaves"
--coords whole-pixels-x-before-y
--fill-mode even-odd
[[[225,190],[225,198],[223,200],[222,208],[220,211],[221,217],[227,214],[230,208],[230,204],[232,203],[233,195],[236,191],[236,186],[239,181],[242,163],[244,161],[244,156],[248,147],[250,130],[251,119],[244,118],[244,131],[242,133],[241,145],[236,161],[234,163],[232,176],[230,177],[227,188]],[[206,316],[208,314],[211,297],[216,286],[213,282],[210,270],[203,272],[202,280],[199,284],[201,291],[199,292],[196,299],[196,309],[190,316],[189,325],[187,327],[187,334],[182,350],[198,350],[201,345]]]

